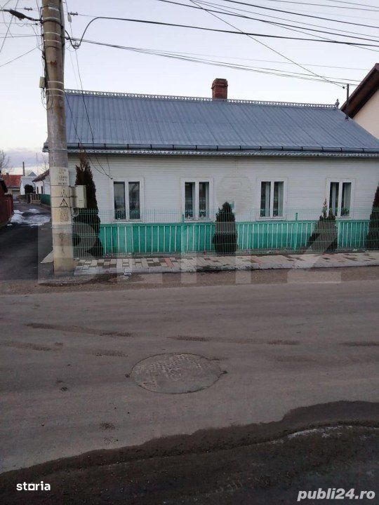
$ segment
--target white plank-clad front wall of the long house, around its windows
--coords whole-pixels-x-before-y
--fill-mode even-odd
[[[182,181],[210,180],[211,208],[234,201],[235,213],[255,219],[260,208],[260,180],[284,180],[286,218],[317,218],[328,181],[352,181],[351,217],[369,217],[379,181],[378,159],[296,159],[230,156],[105,156],[98,155],[102,168],[91,158],[102,222],[113,220],[113,182],[142,180],[145,210],[182,213]],[[77,156],[69,156],[70,182],[74,185]],[[94,168],[95,167],[95,168]],[[105,173],[113,177],[109,179]],[[142,208],[143,210],[143,208]],[[312,212],[312,215],[311,215]],[[151,214],[150,214],[151,215]],[[145,220],[150,220],[145,212]],[[166,221],[170,218],[166,217]]]

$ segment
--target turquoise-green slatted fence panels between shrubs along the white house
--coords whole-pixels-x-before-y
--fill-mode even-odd
[[[239,222],[237,250],[302,250],[307,247],[315,224],[314,221]],[[365,248],[368,220],[337,222],[337,229],[338,248]],[[100,241],[104,253],[109,255],[214,252],[214,233],[215,223],[211,222],[100,225]]]

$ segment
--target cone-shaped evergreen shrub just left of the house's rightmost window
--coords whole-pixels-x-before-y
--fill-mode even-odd
[[[314,231],[308,239],[307,247],[313,251],[331,253],[337,249],[337,246],[338,229],[335,224],[335,215],[330,209],[328,213],[325,200],[316,227],[314,227]]]

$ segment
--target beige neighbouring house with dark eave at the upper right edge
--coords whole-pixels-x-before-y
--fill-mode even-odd
[[[368,72],[341,110],[379,138],[379,63]]]

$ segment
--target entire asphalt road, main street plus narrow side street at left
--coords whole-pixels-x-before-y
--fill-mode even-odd
[[[41,283],[39,210],[0,231],[1,503],[378,496],[378,269]]]

